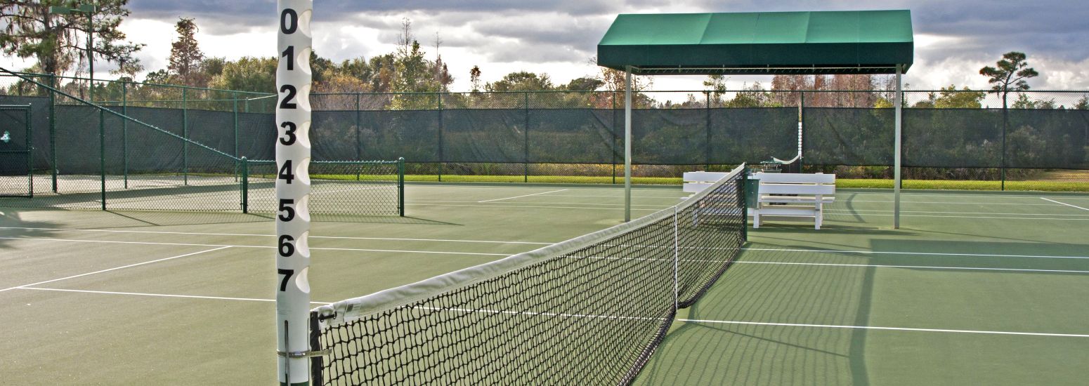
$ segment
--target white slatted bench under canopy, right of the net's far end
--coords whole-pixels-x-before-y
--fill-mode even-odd
[[[813,217],[813,228],[823,222],[823,206],[835,198],[835,174],[756,173],[760,179],[752,227],[760,227],[760,216]],[[772,206],[771,203],[783,203]]]

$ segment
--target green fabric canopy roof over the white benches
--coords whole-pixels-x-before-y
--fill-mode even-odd
[[[633,74],[892,74],[911,65],[901,11],[621,14],[598,64]]]

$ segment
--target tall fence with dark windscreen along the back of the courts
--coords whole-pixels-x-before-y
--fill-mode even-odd
[[[45,98],[32,102],[58,110],[57,122],[94,123],[95,112],[82,111],[87,107],[65,98],[50,103],[40,87],[4,79],[9,80],[0,86],[5,99]],[[62,88],[85,92],[83,84],[81,88],[73,80]],[[154,145],[129,149],[156,139],[125,140],[125,125],[133,123],[112,119],[109,126],[121,128],[107,132],[121,140],[109,146],[121,149],[110,153],[125,155],[107,158],[107,163],[120,169],[120,175],[133,166],[126,166],[132,162],[126,158],[171,160],[180,163],[171,170],[180,171],[184,185],[196,170],[208,169],[191,160],[207,149],[189,142],[234,159],[274,157],[274,95],[243,98],[229,90],[110,82],[95,89],[102,97],[96,100],[111,110],[184,139],[176,149]],[[904,176],[994,182],[995,188],[1006,187],[1006,182],[1089,183],[1087,95],[1023,91],[1003,98],[991,91],[905,91]],[[804,171],[874,179],[874,186],[891,184],[893,97],[891,91],[636,92],[633,174],[640,178],[637,183],[677,183],[686,171],[790,160],[800,152]],[[317,94],[310,100],[314,159],[404,158],[409,180],[613,184],[623,179],[623,92],[610,91]],[[41,111],[34,111],[34,127],[51,123],[41,119]],[[63,151],[60,160],[50,162],[53,152],[42,149],[96,139],[85,135],[95,133],[95,127],[75,132],[82,134],[49,138],[50,130],[35,130],[39,145],[34,169],[48,172],[53,164],[73,172],[94,169],[93,159],[66,162]],[[1020,187],[1032,188],[1014,186]]]

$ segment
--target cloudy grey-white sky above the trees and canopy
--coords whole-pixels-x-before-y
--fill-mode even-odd
[[[1041,73],[1035,89],[1089,89],[1089,5],[1084,0],[421,0],[315,1],[314,48],[335,61],[391,52],[401,21],[454,75],[454,91],[469,89],[468,72],[479,65],[493,82],[515,71],[548,73],[556,84],[592,76],[589,60],[617,13],[832,11],[908,9],[915,29],[915,64],[905,76],[913,89],[946,85],[986,88],[979,69],[1007,51],[1028,54]],[[876,4],[880,3],[880,4]],[[234,60],[276,54],[273,0],[131,0],[122,29],[147,47],[138,53],[150,71],[164,69],[178,17],[195,17],[197,39],[208,57]],[[13,61],[5,59],[5,61]],[[17,61],[15,61],[19,64]],[[98,69],[96,69],[98,70]],[[105,70],[103,70],[105,71]],[[105,73],[101,75],[106,75]],[[140,76],[140,78],[143,75]],[[701,89],[702,77],[658,76],[653,89]],[[763,82],[733,76],[727,85]]]

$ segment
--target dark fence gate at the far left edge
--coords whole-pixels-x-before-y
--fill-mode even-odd
[[[0,104],[0,197],[33,197],[29,104]]]

